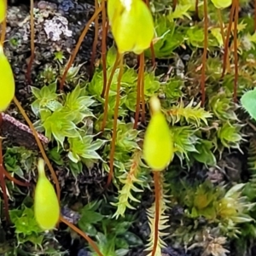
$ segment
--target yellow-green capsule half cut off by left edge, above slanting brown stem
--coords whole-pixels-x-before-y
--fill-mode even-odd
[[[1,2],[1,0],[0,0]],[[5,111],[15,96],[15,79],[7,57],[0,44],[0,113]]]

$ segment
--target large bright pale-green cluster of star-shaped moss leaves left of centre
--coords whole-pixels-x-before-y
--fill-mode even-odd
[[[44,86],[41,90],[32,88],[37,100],[32,102],[32,111],[40,116],[35,124],[39,131],[51,140],[53,137],[64,148],[66,138],[81,137],[79,125],[88,117],[93,117],[90,106],[95,102],[85,95],[84,88],[79,85],[62,97],[55,93],[56,83]]]

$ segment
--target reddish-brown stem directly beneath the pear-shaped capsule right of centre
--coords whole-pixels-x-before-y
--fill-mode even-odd
[[[158,245],[158,230],[159,230],[159,212],[160,212],[160,172],[153,172],[154,175],[154,245],[152,249],[152,256],[154,256],[156,252],[156,248]]]

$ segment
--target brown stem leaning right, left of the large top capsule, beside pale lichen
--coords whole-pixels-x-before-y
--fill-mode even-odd
[[[92,17],[90,18],[90,20],[87,22],[86,26],[84,26],[84,30],[83,32],[81,33],[80,37],[79,37],[79,42],[76,44],[76,47],[75,49],[73,50],[73,53],[71,55],[71,58],[69,59],[69,61],[67,62],[67,67],[65,68],[65,71],[62,75],[62,78],[61,78],[61,83],[60,83],[60,90],[63,90],[63,86],[64,86],[64,82],[67,78],[67,72],[69,70],[69,68],[72,66],[73,64],[73,61],[76,57],[76,55],[78,54],[78,51],[79,51],[79,48],[80,48],[80,45],[82,44],[83,40],[84,40],[84,37],[86,35],[86,33],[88,32],[89,28],[90,28],[90,24],[92,23],[93,20],[96,19],[96,17],[100,14],[100,12],[102,11],[103,9],[103,4],[95,10],[95,13],[94,15],[92,15]]]

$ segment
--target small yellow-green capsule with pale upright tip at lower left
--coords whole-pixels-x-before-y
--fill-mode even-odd
[[[43,230],[52,230],[60,218],[60,205],[54,186],[44,172],[44,160],[38,160],[38,183],[35,190],[34,212]]]

